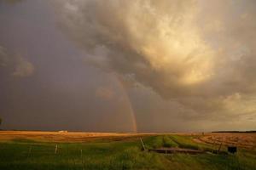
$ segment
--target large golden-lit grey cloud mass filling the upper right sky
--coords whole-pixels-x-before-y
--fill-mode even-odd
[[[151,88],[195,119],[254,117],[254,1],[60,0],[85,60]],[[252,116],[253,115],[253,116]]]

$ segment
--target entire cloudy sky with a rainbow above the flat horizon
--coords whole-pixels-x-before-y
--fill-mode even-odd
[[[1,128],[256,129],[254,0],[0,0]]]

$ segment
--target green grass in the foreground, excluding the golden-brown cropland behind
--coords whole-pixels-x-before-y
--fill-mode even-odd
[[[162,135],[144,137],[147,148],[182,147],[212,150],[208,144],[195,143],[193,137]],[[256,153],[238,150],[235,155],[215,154],[158,154],[142,151],[137,137],[94,139],[84,143],[38,142],[12,139],[0,143],[0,169],[256,169]]]

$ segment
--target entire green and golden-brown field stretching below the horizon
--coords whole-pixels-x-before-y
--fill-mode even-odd
[[[159,154],[162,147],[205,150]],[[256,169],[256,133],[67,133],[0,131],[0,169]],[[212,154],[238,146],[236,154]]]

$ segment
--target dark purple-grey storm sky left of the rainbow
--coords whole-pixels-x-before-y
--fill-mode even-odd
[[[1,128],[135,130],[119,83],[84,65],[46,1],[0,2]]]

